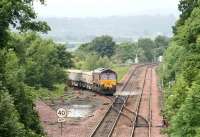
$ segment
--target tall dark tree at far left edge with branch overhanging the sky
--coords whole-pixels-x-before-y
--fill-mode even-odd
[[[45,22],[36,21],[33,0],[1,0],[0,7],[0,130],[2,131],[0,134],[2,137],[41,136],[43,131],[37,113],[33,109],[33,100],[27,94],[28,89],[23,83],[24,69],[21,64],[23,60],[20,62],[17,55],[12,52],[23,50],[9,45],[12,39],[9,26],[22,32],[28,30],[47,32],[50,27]],[[18,55],[22,57],[23,54]],[[5,109],[8,110],[4,111]]]

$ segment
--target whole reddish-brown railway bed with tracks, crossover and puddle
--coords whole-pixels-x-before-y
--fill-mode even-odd
[[[71,101],[59,100],[54,105],[38,101],[36,109],[47,136],[165,137],[156,65],[132,65],[120,83],[114,96],[75,88]],[[62,135],[56,116],[59,107],[70,111]]]

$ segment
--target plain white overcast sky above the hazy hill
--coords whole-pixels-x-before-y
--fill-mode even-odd
[[[178,15],[179,0],[46,0],[35,3],[42,17],[104,17],[141,14]]]

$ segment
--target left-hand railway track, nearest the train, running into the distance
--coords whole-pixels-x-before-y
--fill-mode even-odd
[[[135,67],[135,69],[132,71],[127,81],[123,85],[121,91],[131,90],[131,88],[133,87],[133,81],[135,79],[136,71],[138,71],[141,67],[144,67],[144,66],[145,65],[138,65]],[[119,120],[119,117],[122,113],[124,106],[126,105],[128,98],[129,96],[120,96],[120,95],[115,98],[113,104],[108,109],[107,113],[105,114],[103,119],[100,121],[100,123],[97,125],[97,127],[95,128],[93,133],[90,135],[90,137],[112,136],[113,130],[116,126],[116,123]]]

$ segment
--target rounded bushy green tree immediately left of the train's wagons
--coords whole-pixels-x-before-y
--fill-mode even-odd
[[[26,39],[21,43],[26,42]],[[25,50],[25,83],[34,87],[53,89],[56,83],[66,80],[64,68],[72,67],[72,55],[63,45],[52,40],[32,40]]]

